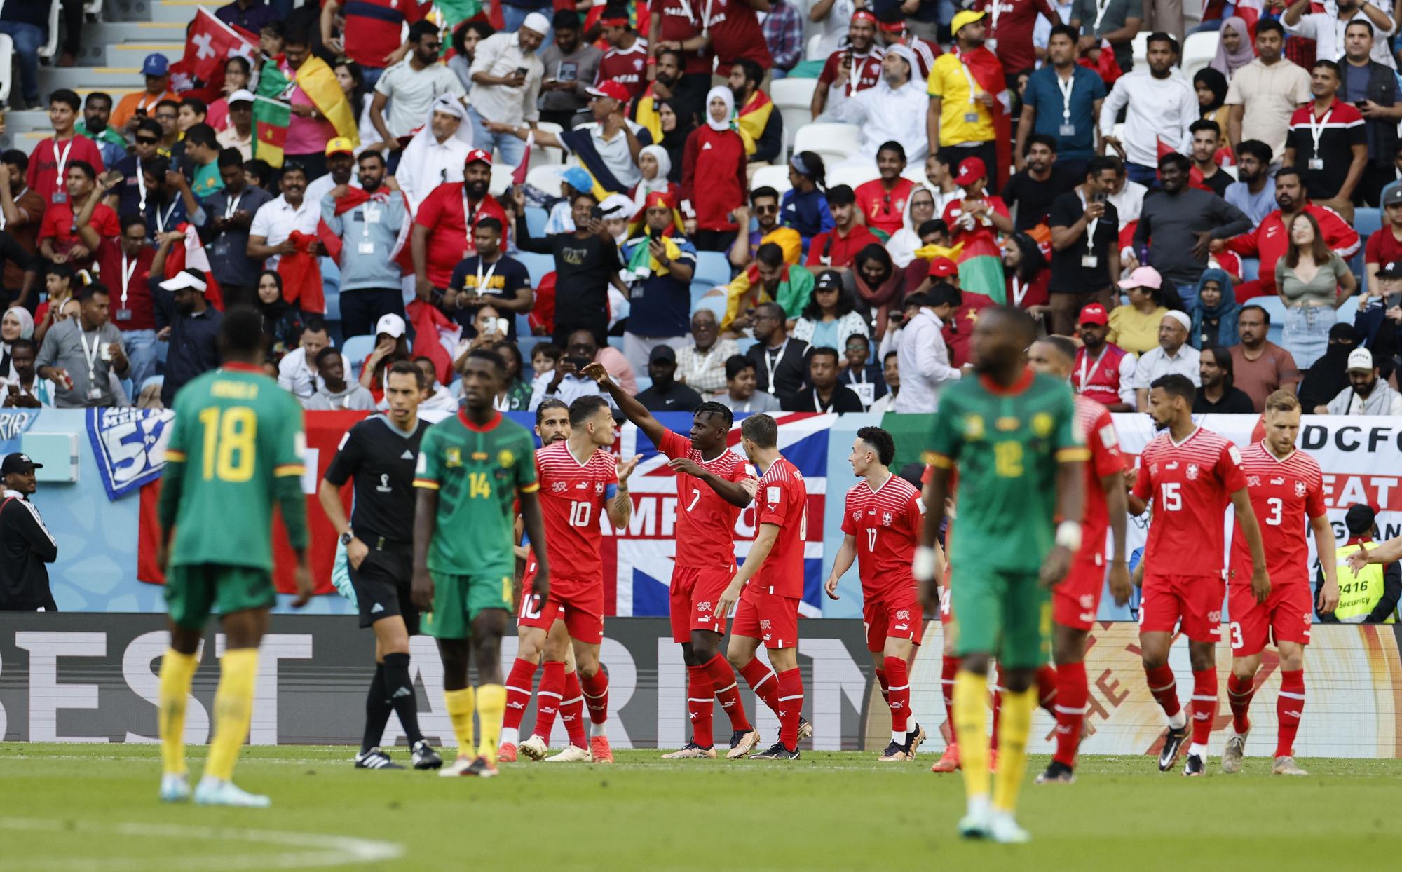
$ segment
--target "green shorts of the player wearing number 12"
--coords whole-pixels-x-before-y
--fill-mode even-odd
[[[959,635],[955,653],[987,653],[1005,669],[1033,669],[1050,658],[1052,594],[1036,572],[955,566],[951,579]]]

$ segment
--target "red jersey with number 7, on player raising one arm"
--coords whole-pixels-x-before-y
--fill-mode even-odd
[[[667,457],[686,457],[725,481],[744,481],[750,472],[744,458],[722,451],[715,460],[702,460],[691,440],[672,430],[662,435],[658,449]],[[735,564],[735,522],[740,507],[732,505],[709,485],[691,475],[677,475],[677,555],[684,568]]]

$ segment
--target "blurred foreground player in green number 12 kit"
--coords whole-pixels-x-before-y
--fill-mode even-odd
[[[939,397],[925,454],[925,524],[913,562],[916,579],[927,585],[925,600],[934,600],[934,545],[958,465],[959,531],[951,544],[949,586],[959,615],[955,733],[969,802],[959,833],[1000,843],[1029,838],[1014,810],[1028,764],[1033,679],[1049,653],[1046,586],[1066,576],[1081,547],[1081,524],[1073,519],[1081,517],[1088,457],[1070,388],[1028,369],[1023,349],[1033,339],[1032,318],[1019,308],[986,308],[974,325],[970,350],[979,377],[956,381]],[[1057,526],[1057,517],[1066,520]],[[984,719],[994,656],[1007,691],[990,806]]]

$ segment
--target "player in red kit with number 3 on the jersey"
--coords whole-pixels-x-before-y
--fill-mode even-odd
[[[1295,765],[1294,740],[1305,707],[1305,645],[1314,601],[1309,593],[1309,545],[1305,541],[1305,517],[1314,530],[1323,585],[1319,587],[1319,611],[1339,604],[1338,566],[1333,554],[1333,529],[1325,515],[1323,474],[1314,457],[1295,449],[1300,433],[1300,400],[1290,391],[1266,397],[1266,437],[1241,453],[1246,472],[1251,505],[1260,519],[1270,571],[1270,596],[1265,603],[1252,596],[1246,582],[1251,557],[1238,524],[1231,545],[1231,582],[1227,613],[1231,618],[1231,677],[1227,701],[1231,704],[1232,732],[1223,750],[1223,771],[1241,771],[1251,719],[1246,709],[1256,693],[1256,670],[1266,636],[1280,649],[1280,693],[1276,695],[1276,753],[1272,772],[1304,775]]]

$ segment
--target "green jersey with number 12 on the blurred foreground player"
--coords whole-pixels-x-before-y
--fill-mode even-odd
[[[959,468],[949,562],[1036,572],[1056,538],[1057,464],[1088,456],[1071,390],[1052,376],[944,388],[925,461]]]

